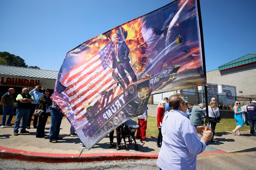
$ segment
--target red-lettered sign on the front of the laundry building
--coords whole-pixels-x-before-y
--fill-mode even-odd
[[[29,80],[29,79],[21,79],[21,78],[1,77],[1,85],[35,87],[39,84],[40,84],[40,80],[35,80],[35,79]]]

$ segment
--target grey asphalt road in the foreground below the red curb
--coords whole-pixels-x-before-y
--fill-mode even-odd
[[[256,151],[203,155],[197,170],[255,170]],[[0,170],[158,170],[156,159],[45,163],[0,159]]]

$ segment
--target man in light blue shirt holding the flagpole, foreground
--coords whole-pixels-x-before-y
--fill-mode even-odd
[[[185,100],[174,94],[169,97],[171,110],[163,118],[163,143],[157,159],[161,170],[196,170],[196,156],[205,150],[212,138],[207,127],[195,127],[186,116]],[[201,139],[197,132],[204,130]]]

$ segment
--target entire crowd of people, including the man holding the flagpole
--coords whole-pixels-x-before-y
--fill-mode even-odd
[[[1,99],[3,104],[3,118],[2,128],[5,126],[12,126],[11,120],[14,111],[15,89],[9,88]],[[62,120],[62,112],[49,98],[49,89],[36,86],[33,90],[29,91],[28,88],[23,88],[21,94],[16,97],[17,109],[16,119],[14,125],[14,136],[20,133],[29,133],[26,129],[30,129],[31,120],[35,111],[42,110],[42,116],[34,117],[33,127],[36,128],[36,138],[45,138],[45,125],[48,116],[51,116],[51,125],[49,130],[49,142],[56,143],[62,138],[59,136],[60,125]],[[247,117],[246,124],[250,125],[250,133],[256,135],[256,101],[251,101],[248,105],[240,107],[241,103],[236,101],[233,107],[234,118],[236,120],[236,128],[232,131],[234,135],[241,135],[240,128],[243,126],[244,114]],[[217,107],[215,98],[213,97],[209,102],[209,129],[204,125],[203,116],[206,114],[204,103],[194,105],[192,108],[188,107],[188,102],[183,99],[179,94],[174,94],[169,98],[165,97],[160,101],[157,107],[157,147],[161,147],[157,165],[162,169],[169,169],[169,167],[183,169],[183,167],[196,167],[196,156],[202,153],[208,141],[214,142],[215,127],[220,122],[220,111]],[[189,112],[189,114],[188,114]],[[9,117],[6,122],[7,113]],[[22,125],[20,121],[22,119]],[[141,141],[147,141],[148,112],[138,116],[138,125],[136,137]],[[20,128],[20,133],[19,133]],[[122,126],[116,128],[116,144],[113,142],[112,131],[109,134],[110,144],[109,147],[116,147],[117,150],[122,149],[121,146],[121,129]],[[200,134],[200,138],[198,137]],[[70,127],[69,136],[77,136],[73,127]],[[81,142],[82,144],[82,142]],[[82,148],[85,148],[83,145]],[[169,156],[172,155],[172,156]]]

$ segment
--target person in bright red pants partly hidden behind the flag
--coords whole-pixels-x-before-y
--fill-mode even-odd
[[[140,138],[140,140],[146,140],[146,129],[147,129],[147,120],[148,120],[148,108],[145,109],[145,112],[138,116],[138,124],[140,128],[137,129],[136,137]]]

